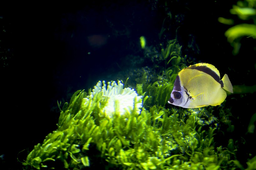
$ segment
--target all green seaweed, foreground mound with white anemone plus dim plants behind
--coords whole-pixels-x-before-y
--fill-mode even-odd
[[[34,146],[25,168],[244,169],[236,157],[237,141],[214,140],[234,131],[230,108],[168,107],[177,74],[194,64],[181,48],[177,40],[168,40],[166,47],[160,45],[160,55],[145,56],[156,64],[134,71],[125,85],[99,81],[88,93],[76,91],[62,108],[58,103],[57,130]],[[234,92],[244,88],[235,86]],[[247,164],[253,169],[255,158]]]

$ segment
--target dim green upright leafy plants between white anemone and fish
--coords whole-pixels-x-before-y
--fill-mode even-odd
[[[165,106],[173,89],[173,83],[176,76],[181,69],[187,67],[187,64],[193,63],[189,61],[188,57],[182,56],[181,48],[177,40],[168,40],[166,47],[160,45],[161,54],[158,56],[158,63],[164,61],[164,67],[156,74],[157,78],[151,78],[156,80],[155,82],[144,81],[144,77],[147,76],[147,72],[144,72],[145,76],[137,78],[136,89],[140,95],[145,93],[148,95],[148,100],[144,103],[144,106]],[[155,55],[152,55],[151,60],[155,60]],[[152,76],[152,75],[151,75]]]

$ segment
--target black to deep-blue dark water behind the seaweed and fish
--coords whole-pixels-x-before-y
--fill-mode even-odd
[[[0,55],[7,59],[0,60],[0,155],[4,154],[0,166],[22,169],[17,157],[25,159],[27,150],[57,129],[57,100],[69,102],[76,90],[87,91],[99,80],[116,80],[117,72],[131,67],[122,62],[125,57],[143,57],[142,35],[147,46],[177,36],[184,55],[213,64],[221,77],[229,75],[233,85],[254,85],[255,40],[243,38],[240,53],[234,56],[224,36],[230,26],[218,22],[218,17],[243,22],[230,15],[233,3],[211,0],[204,1],[202,7],[199,1],[167,2],[167,7],[165,1],[113,0],[84,5],[1,5]],[[172,19],[166,19],[165,38],[159,39],[168,11]],[[100,42],[89,41],[88,37],[95,35]],[[192,40],[193,48],[189,46]],[[241,126],[238,129],[243,135],[254,114],[253,96],[245,96],[228,98],[236,110],[234,117],[240,117],[234,124]],[[240,139],[239,135],[229,137]]]

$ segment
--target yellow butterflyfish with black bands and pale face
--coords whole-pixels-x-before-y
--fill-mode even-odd
[[[220,80],[212,64],[194,64],[180,71],[168,103],[184,108],[217,106],[227,97],[224,89],[233,93],[227,74]]]

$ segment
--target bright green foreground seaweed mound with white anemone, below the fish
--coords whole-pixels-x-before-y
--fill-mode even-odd
[[[58,129],[28,154],[23,163],[27,169],[233,166],[229,161],[234,147],[232,150],[219,146],[217,152],[214,150],[216,120],[203,123],[199,118],[209,115],[207,110],[144,107],[142,103],[150,99],[147,96],[142,101],[134,89],[123,88],[121,81],[107,84],[98,82],[89,96],[84,91],[74,93],[70,103],[61,109]]]

